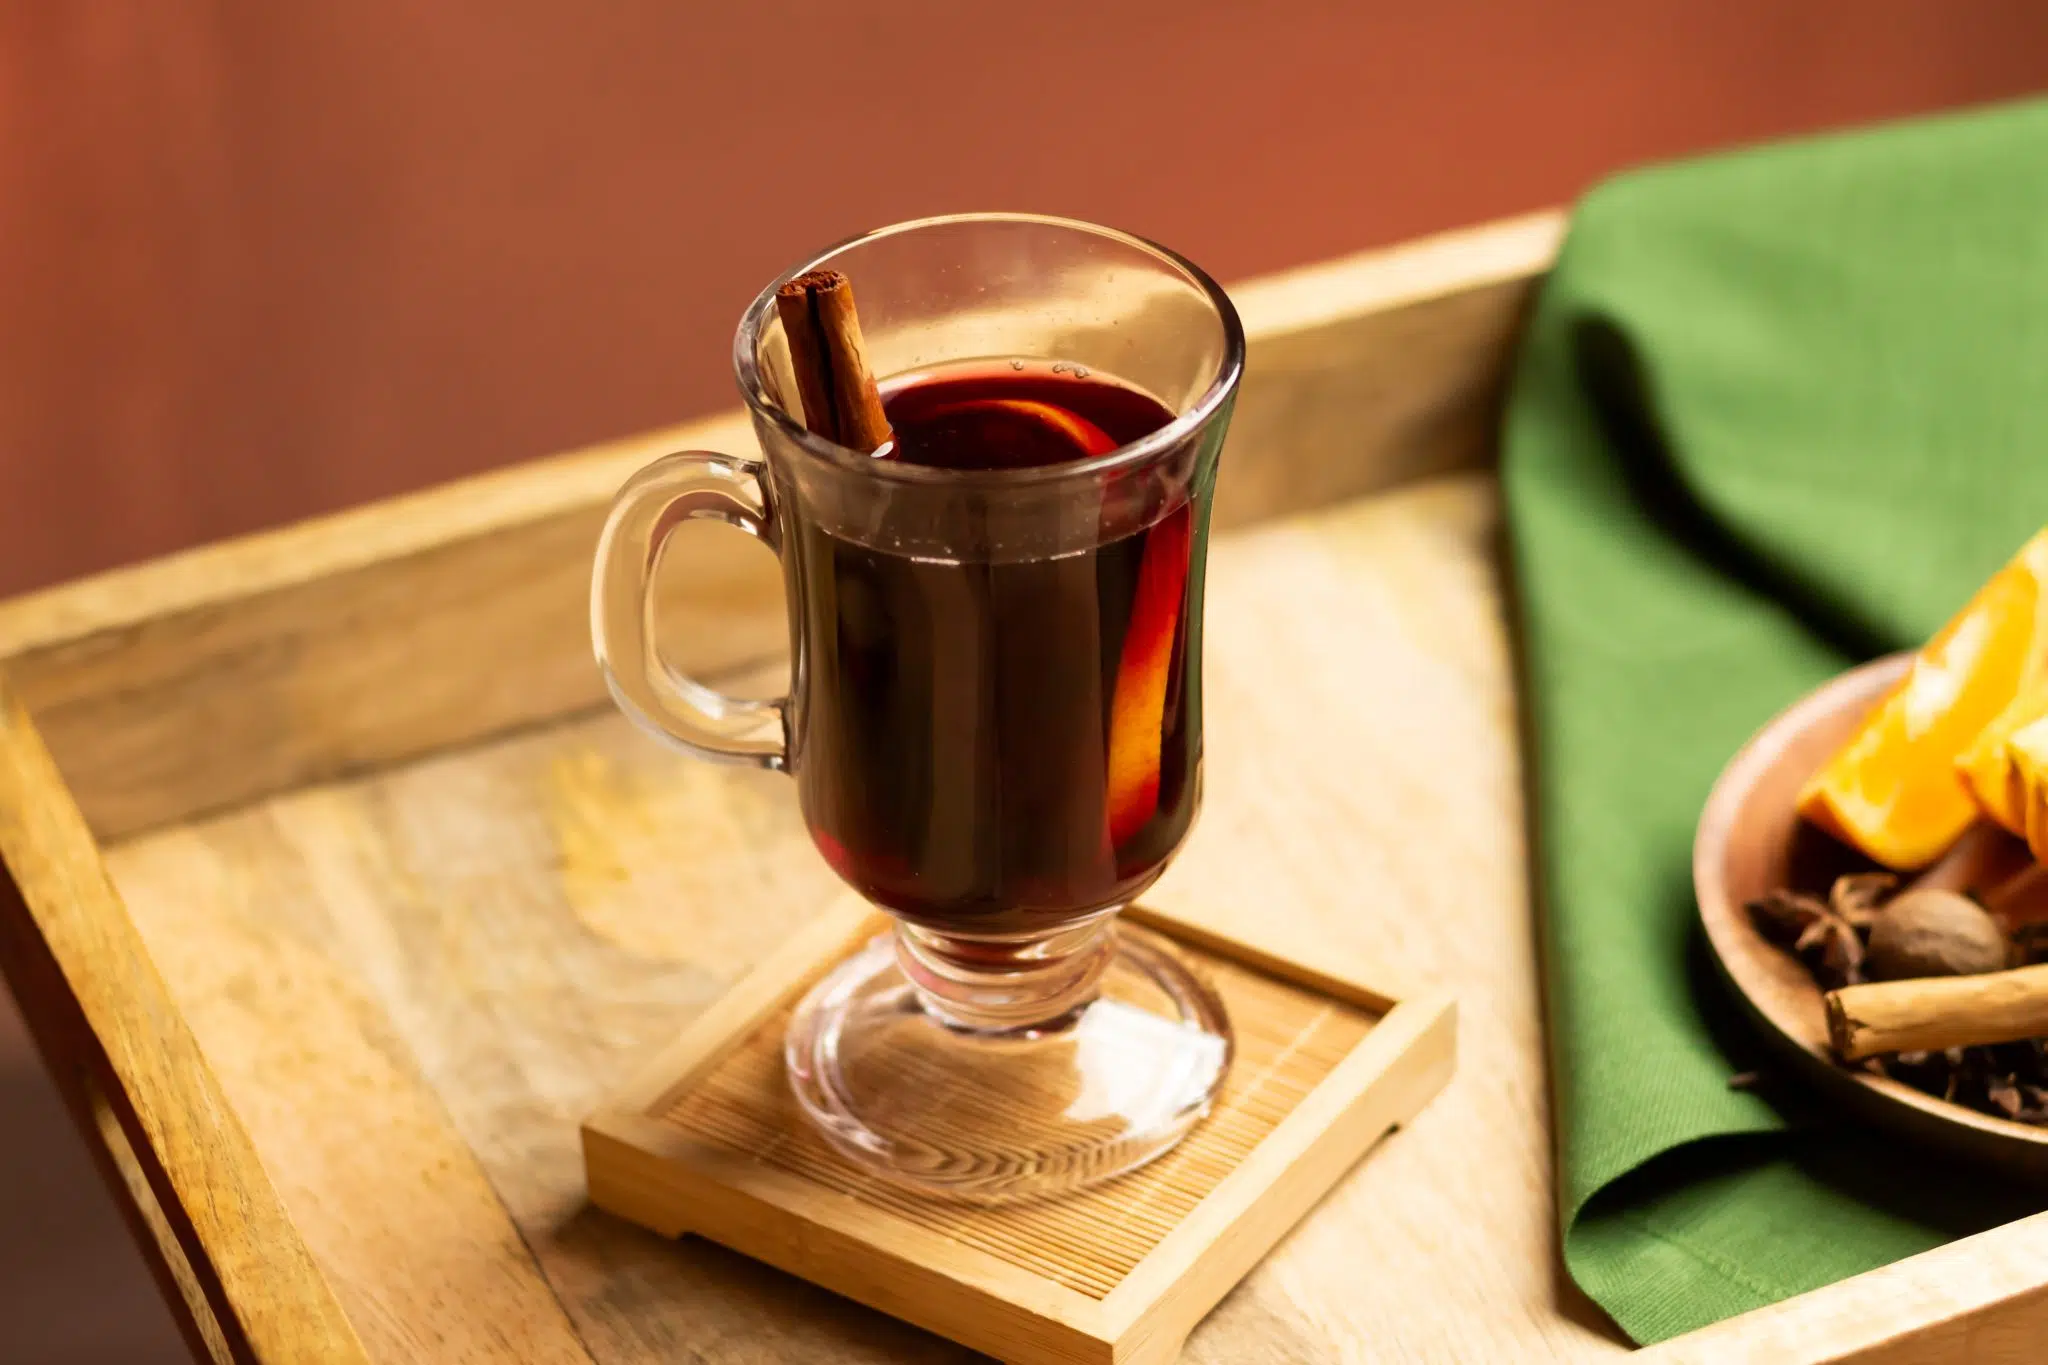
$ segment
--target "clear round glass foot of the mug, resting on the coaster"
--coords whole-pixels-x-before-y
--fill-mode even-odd
[[[1231,1031],[1163,939],[1108,915],[1053,941],[899,925],[811,988],[782,1056],[797,1103],[840,1154],[899,1185],[993,1203],[1167,1152],[1208,1113]]]

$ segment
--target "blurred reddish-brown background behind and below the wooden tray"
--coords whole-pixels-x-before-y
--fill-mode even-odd
[[[891,219],[1229,280],[2044,86],[2040,0],[14,0],[0,591],[721,407]],[[4,1001],[0,1357],[182,1357]]]

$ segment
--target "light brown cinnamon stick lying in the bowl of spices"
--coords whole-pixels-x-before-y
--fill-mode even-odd
[[[2048,1036],[2048,964],[1978,976],[1882,980],[1827,993],[1827,1040],[1843,1062]]]

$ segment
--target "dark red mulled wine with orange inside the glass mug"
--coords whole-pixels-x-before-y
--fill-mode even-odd
[[[993,360],[883,385],[879,458],[991,471],[1108,454],[1171,422],[1081,366]],[[954,933],[1032,933],[1130,900],[1188,833],[1200,716],[1186,677],[1188,501],[1049,559],[797,546],[809,686],[805,821],[877,905]]]

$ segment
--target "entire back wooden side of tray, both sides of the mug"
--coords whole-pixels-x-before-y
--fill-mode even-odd
[[[1561,215],[1235,291],[1249,368],[1219,526],[1477,465]],[[588,559],[653,456],[754,454],[737,413],[0,606],[0,659],[94,831],[119,837],[602,704]],[[664,636],[717,671],[782,647],[758,548],[678,536]],[[508,663],[516,661],[516,663]]]

